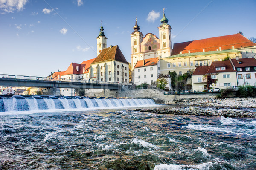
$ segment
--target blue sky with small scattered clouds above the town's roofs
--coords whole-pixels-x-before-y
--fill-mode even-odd
[[[172,43],[256,37],[256,0],[0,0],[0,74],[47,76],[96,58],[101,20],[107,46],[130,62],[135,18],[143,35],[158,37],[163,8]]]

